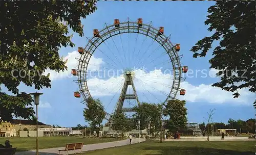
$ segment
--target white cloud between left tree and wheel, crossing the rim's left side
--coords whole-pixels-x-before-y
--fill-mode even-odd
[[[57,72],[54,70],[47,69],[44,75],[50,73],[50,80],[52,81],[64,79],[67,77],[73,77],[73,75],[71,74],[71,70],[78,68],[78,60],[76,58],[80,57],[81,55],[78,53],[78,51],[74,50],[71,53],[68,53],[67,57],[65,57],[65,60],[68,59],[68,62],[66,63],[68,70]],[[104,64],[101,58],[95,58],[94,56],[91,57],[89,63],[90,64],[88,65],[88,70],[99,70],[99,67]]]

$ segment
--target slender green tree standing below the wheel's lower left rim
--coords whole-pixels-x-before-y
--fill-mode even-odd
[[[97,137],[101,123],[105,118],[104,107],[99,99],[88,98],[83,110],[84,120],[89,122],[91,129],[96,131]]]

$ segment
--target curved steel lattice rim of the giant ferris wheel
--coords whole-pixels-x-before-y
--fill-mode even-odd
[[[138,27],[138,22],[120,22],[119,27],[116,28],[116,24],[107,25],[105,23],[106,27],[104,27],[102,30],[98,32],[100,37],[92,37],[91,39],[88,39],[87,45],[84,47],[84,53],[81,54],[80,59],[78,59],[78,84],[79,84],[79,92],[81,92],[83,96],[83,100],[81,102],[86,102],[86,100],[89,97],[93,97],[88,89],[87,84],[87,69],[89,61],[94,53],[94,51],[100,46],[101,43],[103,43],[105,40],[110,39],[113,36],[121,35],[125,33],[138,33],[141,35],[144,35],[146,37],[150,37],[157,41],[166,51],[166,53],[169,56],[170,61],[172,62],[172,67],[174,71],[174,80],[173,80],[173,86],[170,89],[170,92],[163,102],[163,104],[166,103],[169,99],[176,98],[176,95],[178,91],[180,90],[180,83],[181,83],[181,64],[180,64],[180,58],[175,50],[175,46],[173,43],[169,40],[168,37],[166,37],[164,34],[159,35],[159,30],[157,30],[155,27],[152,26],[152,24],[144,24],[141,23],[141,27]]]

